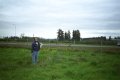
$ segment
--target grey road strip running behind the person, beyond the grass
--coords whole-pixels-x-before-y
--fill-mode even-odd
[[[31,47],[31,43],[27,42],[0,42],[0,47]],[[42,46],[48,47],[116,47],[118,46],[103,46],[103,45],[85,45],[85,44],[42,44]]]

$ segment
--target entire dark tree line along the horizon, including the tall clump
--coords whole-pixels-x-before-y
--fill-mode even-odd
[[[95,43],[99,44],[98,42],[104,41],[105,44],[107,42],[112,43],[111,41],[118,42],[120,41],[120,36],[112,38],[109,36],[109,38],[106,38],[106,36],[100,36],[100,37],[91,37],[91,38],[81,38],[81,33],[79,30],[70,30],[63,31],[62,29],[57,30],[57,36],[56,39],[45,39],[38,37],[38,40],[40,42],[51,42],[51,43],[57,43],[57,42],[67,42],[67,43]],[[24,33],[22,33],[19,37],[18,36],[10,36],[10,37],[3,37],[0,38],[0,41],[15,41],[15,42],[32,42],[33,37],[25,36]],[[116,43],[115,43],[116,44]]]

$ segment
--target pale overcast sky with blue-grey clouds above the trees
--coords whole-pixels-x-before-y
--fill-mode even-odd
[[[0,0],[0,36],[56,38],[57,30],[81,37],[120,36],[120,0]]]

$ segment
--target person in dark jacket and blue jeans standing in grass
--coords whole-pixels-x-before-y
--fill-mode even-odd
[[[32,42],[32,63],[36,64],[38,61],[38,53],[40,51],[40,43],[38,39],[35,37]]]

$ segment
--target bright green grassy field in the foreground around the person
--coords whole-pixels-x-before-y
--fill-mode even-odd
[[[0,80],[120,80],[120,48],[0,48]]]

